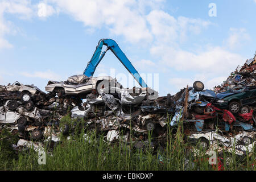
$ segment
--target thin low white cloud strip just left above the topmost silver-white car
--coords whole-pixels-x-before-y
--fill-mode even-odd
[[[20,75],[28,77],[28,78],[43,78],[47,80],[63,80],[63,78],[60,75],[57,75],[56,73],[48,70],[44,72],[34,72],[34,73],[28,73],[28,72],[21,72]]]

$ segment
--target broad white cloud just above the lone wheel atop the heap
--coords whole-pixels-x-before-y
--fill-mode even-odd
[[[193,85],[196,80],[203,81],[205,89],[211,89],[226,80],[230,72],[242,65],[244,57],[226,51],[222,47],[207,48],[205,51],[193,53],[171,47],[154,47],[152,54],[161,57],[159,65],[170,67],[179,71],[179,75],[189,78],[170,78],[169,84],[174,86],[174,91],[184,88],[187,84]]]

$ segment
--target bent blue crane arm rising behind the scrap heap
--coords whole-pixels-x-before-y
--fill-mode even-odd
[[[133,67],[133,64],[129,61],[129,59],[125,56],[125,53],[119,48],[117,43],[112,39],[101,39],[98,42],[98,46],[96,47],[96,50],[93,53],[92,59],[90,59],[89,63],[87,64],[87,67],[84,70],[84,75],[88,77],[92,77],[97,65],[100,63],[102,58],[105,56],[106,51],[101,52],[102,46],[106,46],[108,51],[109,49],[114,53],[114,55],[121,61],[121,63],[125,66],[127,71],[133,75],[135,80],[141,85],[142,87],[147,87],[146,82],[142,79],[142,77],[139,75],[137,70]]]

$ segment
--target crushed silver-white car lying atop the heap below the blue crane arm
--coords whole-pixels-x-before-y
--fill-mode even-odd
[[[50,92],[52,96],[63,95],[85,95],[98,86],[104,88],[105,83],[113,80],[110,76],[99,76],[89,78],[85,75],[74,75],[68,78],[67,81],[48,81],[46,91]],[[114,80],[113,80],[114,81]]]

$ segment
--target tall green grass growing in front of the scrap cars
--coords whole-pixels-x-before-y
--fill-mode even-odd
[[[70,118],[63,119],[70,123]],[[181,126],[180,126],[181,127]],[[2,131],[0,140],[0,169],[1,170],[218,170],[218,167],[210,166],[209,156],[195,157],[189,152],[189,146],[184,143],[183,133],[177,130],[175,135],[168,128],[165,147],[135,149],[134,143],[118,140],[114,143],[104,141],[105,133],[90,131],[88,138],[84,138],[84,130],[79,126],[71,139],[61,135],[61,143],[56,148],[47,152],[46,164],[38,164],[38,154],[34,150],[27,150],[15,154],[11,149],[11,141],[17,141],[17,137],[11,136],[7,131]],[[131,134],[132,131],[131,131]],[[130,135],[133,136],[133,135]],[[10,138],[10,139],[9,139]],[[130,140],[132,140],[130,138]],[[154,140],[148,134],[148,143]],[[16,144],[16,143],[15,143]],[[145,143],[146,144],[146,143]],[[45,147],[47,151],[47,148]],[[205,151],[199,150],[201,154]],[[185,157],[188,162],[185,162]],[[224,159],[226,156],[224,156]],[[255,170],[252,168],[255,154],[245,156],[240,161],[236,155],[231,156],[235,163],[224,166],[225,170]],[[187,164],[187,165],[186,165]]]

